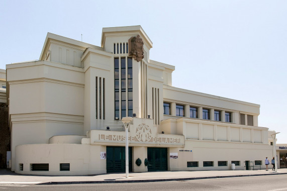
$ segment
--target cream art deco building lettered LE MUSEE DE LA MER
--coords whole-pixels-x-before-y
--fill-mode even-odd
[[[39,60],[8,64],[12,170],[124,172],[133,114],[130,171],[264,168],[260,106],[172,86],[152,46],[140,26],[104,28],[101,47],[48,33]]]

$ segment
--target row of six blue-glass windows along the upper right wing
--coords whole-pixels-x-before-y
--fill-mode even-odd
[[[177,105],[175,106],[176,109],[176,116],[179,117],[185,117],[184,114],[184,106],[183,105]],[[203,119],[210,120],[210,109],[203,109]],[[169,103],[163,103],[163,114],[164,115],[170,115],[170,104]],[[198,117],[198,108],[191,107],[189,108],[189,117],[190,118],[199,118]],[[214,111],[214,120],[215,121],[221,121],[221,111]],[[231,122],[231,113],[225,112],[225,122]]]

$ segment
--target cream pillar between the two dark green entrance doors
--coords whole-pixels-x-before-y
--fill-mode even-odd
[[[136,165],[136,160],[141,159],[140,166]],[[133,172],[147,172],[147,166],[144,165],[144,160],[147,158],[147,147],[133,147]]]

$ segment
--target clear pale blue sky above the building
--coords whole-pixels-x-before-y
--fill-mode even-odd
[[[0,68],[39,59],[47,32],[101,46],[103,27],[141,25],[173,86],[261,105],[287,143],[287,1],[0,0]]]

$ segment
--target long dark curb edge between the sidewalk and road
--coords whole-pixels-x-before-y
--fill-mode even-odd
[[[241,174],[241,175],[205,176],[205,177],[190,177],[190,178],[168,178],[168,179],[97,180],[97,181],[43,182],[43,183],[37,183],[37,184],[34,184],[34,185],[163,182],[163,181],[184,181],[184,180],[199,180],[199,179],[213,179],[213,178],[231,178],[231,177],[245,177],[245,176],[265,176],[265,175],[281,175],[281,174],[287,174],[287,172],[275,173],[275,174]]]

